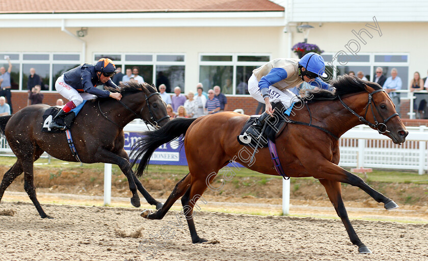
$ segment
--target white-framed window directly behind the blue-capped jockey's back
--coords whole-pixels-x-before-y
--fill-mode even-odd
[[[266,54],[201,54],[199,82],[205,92],[220,86],[224,94],[246,95],[253,70],[270,60]]]

